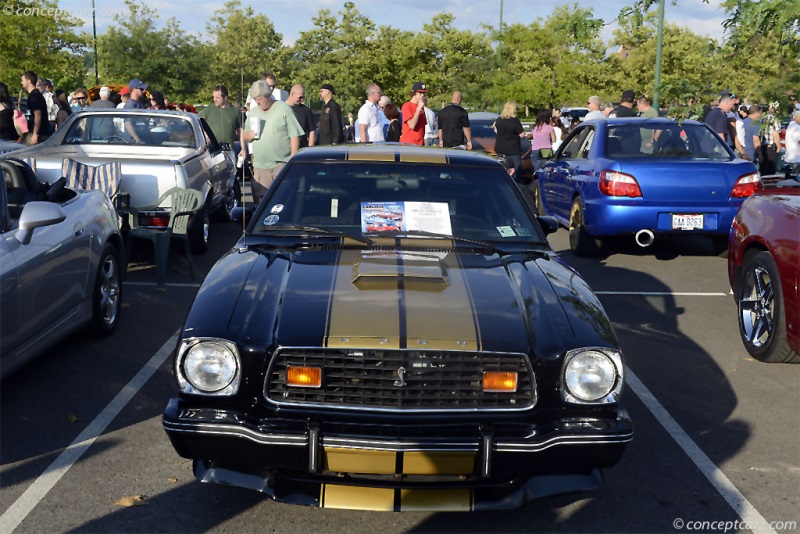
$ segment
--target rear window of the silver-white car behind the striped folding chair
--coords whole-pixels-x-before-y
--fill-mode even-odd
[[[125,113],[82,117],[72,123],[63,144],[197,147],[189,119]]]

